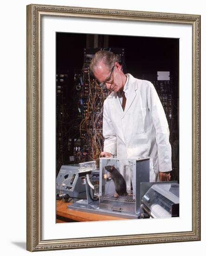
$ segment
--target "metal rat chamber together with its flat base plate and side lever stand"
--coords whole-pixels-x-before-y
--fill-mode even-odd
[[[149,158],[139,160],[127,160],[132,172],[133,191],[131,194],[114,197],[115,186],[111,178],[106,178],[105,166],[113,165],[120,168],[121,160],[116,158],[100,158],[100,186],[94,187],[94,195],[99,196],[98,201],[91,200],[91,195],[86,192],[87,199],[68,205],[67,209],[78,209],[87,212],[95,212],[103,215],[119,216],[125,218],[140,218],[140,184],[149,182]],[[81,165],[81,164],[80,164]],[[95,167],[81,169],[79,176],[83,177],[92,172]],[[86,177],[86,191],[88,191],[88,176]],[[99,189],[99,191],[98,191]]]

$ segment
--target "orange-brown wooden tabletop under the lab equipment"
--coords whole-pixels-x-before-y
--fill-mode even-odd
[[[69,202],[56,201],[56,222],[91,222],[125,220],[125,218],[88,213],[74,209],[67,209]]]

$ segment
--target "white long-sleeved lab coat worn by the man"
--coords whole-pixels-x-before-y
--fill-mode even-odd
[[[125,111],[117,93],[104,101],[104,151],[119,159],[150,157],[150,181],[158,181],[159,171],[172,170],[166,115],[153,84],[127,76]]]

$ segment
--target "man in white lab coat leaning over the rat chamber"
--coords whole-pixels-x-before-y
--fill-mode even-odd
[[[100,85],[111,91],[104,101],[105,141],[101,156],[150,157],[150,181],[169,181],[172,170],[169,128],[153,84],[124,74],[116,55],[110,51],[97,52],[90,71]]]

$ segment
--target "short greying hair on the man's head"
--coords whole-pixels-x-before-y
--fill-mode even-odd
[[[93,73],[95,67],[97,67],[98,63],[103,61],[103,63],[108,67],[108,69],[112,69],[115,62],[118,62],[117,56],[110,51],[100,50],[96,52],[93,56],[92,61],[90,62],[90,72]]]

